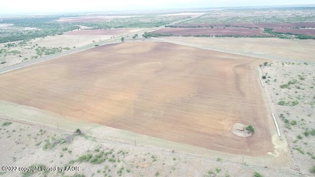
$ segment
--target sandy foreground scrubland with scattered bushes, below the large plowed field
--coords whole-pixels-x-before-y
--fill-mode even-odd
[[[22,110],[19,109],[19,111]],[[12,114],[12,112],[10,113]],[[73,131],[23,121],[10,121],[11,124],[3,126],[2,124],[7,120],[2,118],[0,116],[2,166],[29,167],[34,164],[42,164],[45,167],[63,167],[68,164],[79,167],[78,171],[49,171],[47,173],[36,171],[27,174],[32,177],[61,177],[74,174],[83,174],[86,177],[116,177],[120,174],[123,177],[251,177],[254,172],[259,172],[264,177],[300,177],[292,169],[275,167],[268,162],[253,165],[248,157],[245,157],[244,164],[242,164],[241,158],[238,162],[232,162],[230,158],[216,153],[211,153],[214,157],[209,157],[205,153],[194,151],[191,154],[174,147],[172,150],[138,145],[138,142],[137,145],[134,145],[117,140],[107,140],[110,133],[108,129],[103,131],[105,139],[100,139],[73,135]],[[76,122],[73,123],[76,124]],[[65,139],[66,142],[44,148],[49,145],[47,141],[53,143],[60,139]],[[102,155],[102,151],[110,152],[110,154]],[[93,163],[92,159],[91,161],[78,161],[78,157],[87,154],[91,154],[92,159],[95,159],[96,156],[99,157],[100,154],[104,160],[97,163]],[[99,157],[99,159],[102,158]],[[69,164],[70,161],[72,161],[72,165]],[[1,177],[20,177],[23,176],[23,172],[0,171],[0,175]]]

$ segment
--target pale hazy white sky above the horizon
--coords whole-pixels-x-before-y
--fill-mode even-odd
[[[0,14],[314,4],[315,0],[1,0]]]

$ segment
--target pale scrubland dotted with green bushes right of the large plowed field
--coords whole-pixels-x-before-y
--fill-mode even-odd
[[[292,154],[291,168],[314,176],[311,169],[315,165],[315,65],[277,61],[260,70],[266,76],[266,93]],[[289,81],[296,83],[281,87]],[[285,104],[279,104],[280,101]]]

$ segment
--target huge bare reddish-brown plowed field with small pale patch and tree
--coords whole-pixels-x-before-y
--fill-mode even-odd
[[[273,151],[257,64],[265,60],[162,42],[130,42],[0,75],[0,99],[223,152]],[[251,124],[248,138],[231,132]]]

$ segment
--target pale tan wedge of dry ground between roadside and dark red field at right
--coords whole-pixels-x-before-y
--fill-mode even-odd
[[[179,42],[209,46],[235,53],[263,56],[272,59],[294,59],[315,62],[315,40],[278,38],[201,38],[162,37]]]

